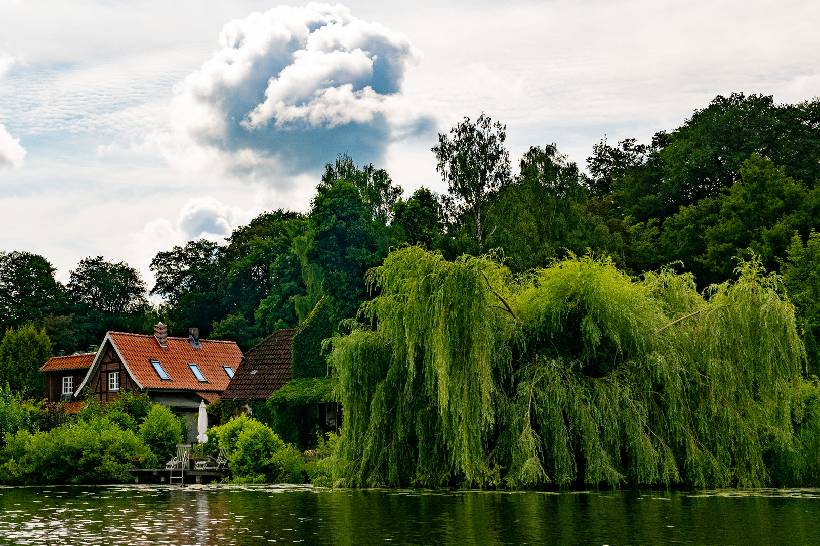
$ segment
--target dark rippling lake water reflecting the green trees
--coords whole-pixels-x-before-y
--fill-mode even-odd
[[[820,544],[820,490],[0,488],[0,544]]]

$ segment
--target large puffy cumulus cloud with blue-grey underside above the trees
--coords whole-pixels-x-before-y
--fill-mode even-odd
[[[421,52],[341,4],[253,13],[225,25],[219,45],[175,88],[163,147],[177,166],[293,177],[342,151],[380,160],[390,142],[430,128],[401,95]]]

